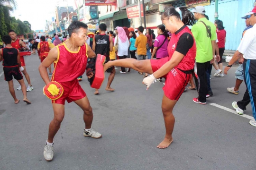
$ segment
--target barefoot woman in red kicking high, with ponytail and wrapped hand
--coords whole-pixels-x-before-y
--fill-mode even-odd
[[[182,20],[177,10],[182,11]],[[167,47],[168,57],[146,60],[119,59],[109,61],[104,65],[104,70],[111,66],[120,66],[151,74],[143,80],[147,89],[156,78],[165,77],[162,112],[166,134],[165,139],[157,145],[161,149],[168,147],[173,142],[172,133],[175,122],[173,109],[192,77],[196,57],[196,43],[191,31],[186,26],[195,24],[196,19],[187,7],[180,7],[177,10],[174,7],[166,7],[161,17],[166,29],[172,33]]]

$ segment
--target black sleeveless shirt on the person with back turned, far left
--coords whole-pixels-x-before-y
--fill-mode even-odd
[[[17,66],[17,57],[18,57],[18,49],[16,48],[3,48],[2,49],[3,56],[3,66],[4,67],[12,67]]]

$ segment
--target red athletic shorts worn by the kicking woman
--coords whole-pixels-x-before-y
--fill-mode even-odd
[[[150,59],[153,72],[161,68],[168,61],[168,57],[163,59]],[[178,68],[173,68],[169,73],[163,76],[165,78],[165,86],[163,87],[165,96],[170,100],[178,101],[191,76],[192,74],[186,74]]]

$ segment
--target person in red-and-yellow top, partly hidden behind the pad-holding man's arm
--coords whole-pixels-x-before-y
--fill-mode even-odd
[[[51,47],[49,46],[49,43],[46,42],[46,37],[41,36],[41,42],[38,43],[37,45],[37,51],[40,51],[40,56],[39,59],[41,62],[43,62],[44,59],[48,56],[49,51],[51,50]],[[48,67],[49,69],[49,76],[52,76],[52,66]]]

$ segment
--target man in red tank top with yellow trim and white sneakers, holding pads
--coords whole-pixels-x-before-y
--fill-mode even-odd
[[[87,25],[79,21],[73,21],[68,27],[68,33],[69,40],[53,48],[39,66],[39,72],[44,82],[46,85],[51,85],[46,68],[54,62],[55,70],[52,81],[58,82],[63,87],[62,96],[52,101],[54,119],[49,125],[48,139],[44,149],[44,157],[47,161],[51,161],[54,156],[53,139],[64,119],[65,101],[75,102],[83,110],[85,123],[83,135],[101,138],[101,134],[91,128],[93,114],[90,102],[77,80],[77,77],[81,76],[86,69],[87,59],[96,56],[91,47],[85,43]],[[92,76],[88,77],[91,78]]]

